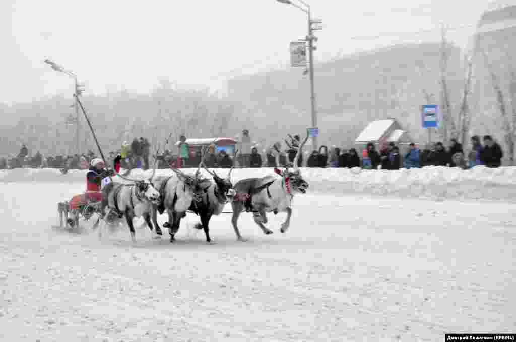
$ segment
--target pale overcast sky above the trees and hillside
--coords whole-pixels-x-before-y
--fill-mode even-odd
[[[438,40],[441,23],[459,28],[449,38],[465,47],[488,4],[307,1],[326,26],[316,32],[317,61]],[[72,94],[70,80],[44,64],[46,58],[73,71],[88,93],[148,92],[160,77],[215,89],[228,77],[287,67],[289,42],[303,38],[307,26],[303,12],[276,0],[0,0],[0,101]],[[410,34],[425,30],[431,31]]]

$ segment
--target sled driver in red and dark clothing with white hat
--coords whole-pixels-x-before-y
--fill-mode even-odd
[[[100,202],[102,200],[102,193],[100,192],[100,184],[102,179],[109,176],[114,176],[113,170],[105,169],[105,164],[102,159],[95,158],[91,161],[91,167],[86,174],[86,192],[81,195],[75,195],[70,200],[70,211],[72,211],[69,221],[73,221],[74,210],[81,209],[84,204],[91,202]]]

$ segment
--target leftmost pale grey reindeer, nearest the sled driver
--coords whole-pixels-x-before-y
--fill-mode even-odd
[[[153,229],[151,223],[152,207],[159,204],[160,200],[159,192],[153,185],[154,175],[156,174],[156,164],[157,163],[154,163],[154,169],[149,179],[130,179],[117,173],[117,176],[132,182],[132,184],[111,181],[102,189],[102,219],[107,223],[107,221],[125,216],[133,243],[136,243],[136,234],[133,225],[133,219],[135,217],[143,216],[150,230],[152,231]],[[107,213],[106,208],[108,209]],[[95,224],[95,226],[97,224]],[[156,233],[158,235],[163,234],[158,226],[156,226]],[[101,236],[102,228],[99,230],[99,237]]]

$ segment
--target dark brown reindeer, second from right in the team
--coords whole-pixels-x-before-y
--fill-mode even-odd
[[[206,149],[203,149],[199,167],[202,166],[208,172],[208,174],[212,175],[213,181],[210,181],[204,187],[201,186],[200,190],[202,192],[200,200],[192,201],[190,211],[200,216],[201,223],[197,224],[195,228],[204,230],[204,235],[206,235],[206,243],[209,244],[212,242],[211,238],[209,238],[209,220],[213,215],[220,215],[222,213],[225,204],[231,201],[235,196],[235,190],[233,189],[233,184],[231,183],[231,172],[233,171],[233,167],[231,167],[229,170],[227,178],[219,177],[215,173],[215,170],[212,172],[206,168],[206,165],[204,165],[205,152]]]

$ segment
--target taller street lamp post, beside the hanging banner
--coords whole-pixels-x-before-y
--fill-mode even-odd
[[[297,0],[299,3],[305,6],[302,7],[292,0],[276,0],[279,3],[294,6],[301,11],[307,13],[308,15],[308,36],[305,39],[308,42],[308,55],[309,55],[309,74],[310,74],[310,100],[312,104],[312,127],[317,128],[317,111],[315,109],[315,90],[314,90],[314,55],[313,52],[315,50],[315,46],[313,46],[314,41],[317,41],[317,37],[313,35],[314,30],[318,30],[320,28],[312,27],[313,24],[320,24],[320,20],[312,20],[310,5],[305,3],[303,0]],[[313,148],[317,149],[317,134],[313,134],[312,136],[312,144]]]

